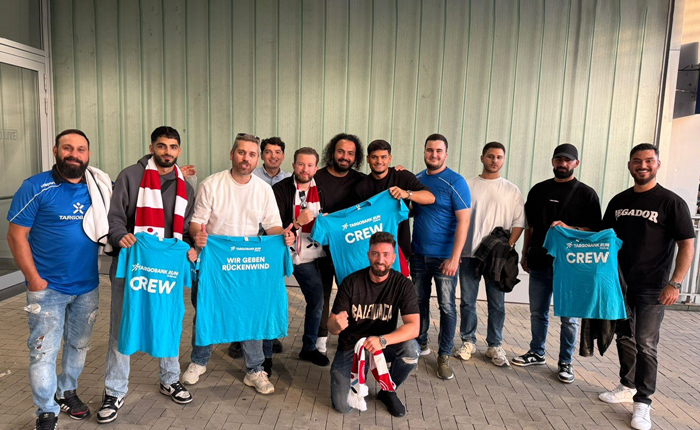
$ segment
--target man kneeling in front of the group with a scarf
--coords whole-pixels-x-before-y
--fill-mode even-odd
[[[418,365],[418,297],[411,281],[391,268],[396,259],[394,236],[374,233],[367,256],[370,266],[343,280],[328,318],[328,331],[339,335],[331,365],[331,399],[341,413],[353,407],[364,410],[358,406],[366,394],[364,372],[356,369],[369,367],[382,387],[377,399],[391,415],[402,417],[406,408],[395,390]],[[403,325],[396,328],[399,312]],[[365,340],[360,344],[361,339]],[[361,365],[365,355],[368,366]]]

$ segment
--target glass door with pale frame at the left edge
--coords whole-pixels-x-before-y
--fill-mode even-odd
[[[24,280],[7,243],[7,212],[22,181],[42,170],[44,76],[43,64],[0,53],[0,290]]]

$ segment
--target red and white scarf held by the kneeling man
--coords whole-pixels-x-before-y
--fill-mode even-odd
[[[367,410],[367,381],[365,378],[365,347],[366,337],[358,340],[355,344],[355,355],[352,357],[352,370],[350,373],[350,391],[348,392],[348,405],[361,411]],[[396,391],[396,384],[391,380],[389,375],[389,367],[386,365],[384,353],[379,350],[374,354],[369,354],[369,370],[372,372],[374,379],[379,382],[379,385],[384,391]]]

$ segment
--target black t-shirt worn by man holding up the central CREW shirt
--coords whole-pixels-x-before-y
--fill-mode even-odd
[[[388,173],[382,179],[375,179],[372,175],[365,176],[355,187],[355,195],[358,201],[363,202],[391,187],[399,187],[404,191],[430,191],[413,173],[408,170],[397,172],[396,169],[390,167]],[[410,207],[411,202],[408,199],[404,200],[404,203]],[[411,227],[408,220],[399,224],[397,241],[403,255],[408,258],[411,255]]]

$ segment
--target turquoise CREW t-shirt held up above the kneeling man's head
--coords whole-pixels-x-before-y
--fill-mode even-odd
[[[381,192],[364,202],[316,218],[311,238],[321,245],[330,245],[338,285],[349,274],[369,266],[369,238],[378,231],[396,238],[399,223],[408,219],[403,200],[396,200],[389,191]],[[398,248],[392,268],[401,271]]]

